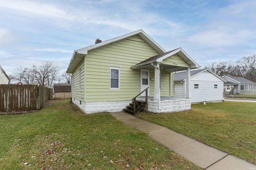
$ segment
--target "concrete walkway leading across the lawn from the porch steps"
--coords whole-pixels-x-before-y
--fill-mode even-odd
[[[110,114],[128,125],[148,133],[150,137],[170,150],[206,170],[256,170],[254,164],[176,133],[166,127],[138,119],[124,112]]]

